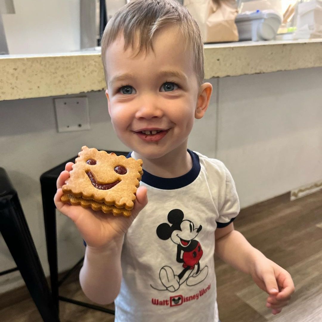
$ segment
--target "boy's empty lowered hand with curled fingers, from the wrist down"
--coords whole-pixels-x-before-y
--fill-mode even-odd
[[[259,288],[269,294],[266,307],[272,309],[273,314],[280,313],[295,290],[289,272],[272,260],[261,258],[256,261],[251,276]]]

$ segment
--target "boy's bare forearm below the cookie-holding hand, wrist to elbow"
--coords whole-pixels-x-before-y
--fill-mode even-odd
[[[80,283],[84,294],[98,304],[109,304],[118,296],[121,279],[121,252],[124,237],[113,240],[109,247],[86,246]]]

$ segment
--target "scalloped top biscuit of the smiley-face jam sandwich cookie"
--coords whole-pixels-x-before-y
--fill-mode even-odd
[[[84,146],[62,190],[74,198],[131,210],[142,174],[142,160]]]

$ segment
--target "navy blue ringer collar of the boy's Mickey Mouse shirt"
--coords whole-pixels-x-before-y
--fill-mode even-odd
[[[199,156],[195,152],[189,149],[187,151],[192,158],[192,168],[185,175],[176,178],[161,178],[156,175],[152,175],[143,168],[141,181],[147,185],[150,185],[151,187],[163,190],[179,189],[185,187],[186,185],[190,185],[200,173],[200,162]],[[127,158],[131,157],[131,153],[132,152],[128,154]]]

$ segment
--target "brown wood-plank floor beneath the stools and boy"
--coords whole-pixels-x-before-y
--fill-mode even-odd
[[[322,191],[292,202],[289,198],[290,194],[284,194],[243,209],[234,222],[235,229],[253,246],[292,275],[296,291],[289,306],[272,315],[265,306],[266,293],[248,275],[216,258],[222,322],[322,322]],[[86,301],[78,273],[64,282],[60,294]],[[13,304],[14,301],[18,302]],[[60,318],[62,322],[114,321],[107,313],[66,302],[60,302]],[[21,289],[11,291],[7,297],[1,295],[0,321],[42,319],[25,289]]]

